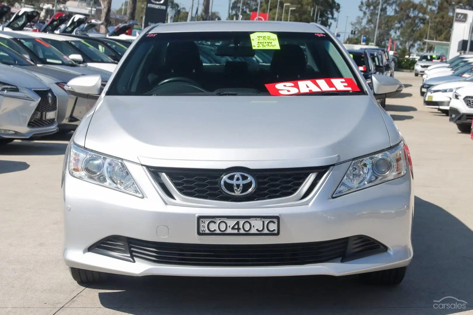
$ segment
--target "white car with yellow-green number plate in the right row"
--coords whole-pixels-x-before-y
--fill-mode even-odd
[[[473,86],[473,77],[469,77],[462,81],[434,85],[427,90],[426,94],[424,94],[424,105],[428,108],[437,109],[441,113],[448,115],[453,90],[464,86]]]

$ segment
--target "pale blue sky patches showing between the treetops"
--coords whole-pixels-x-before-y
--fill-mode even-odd
[[[175,0],[175,1],[187,9],[191,7],[192,0]],[[356,17],[360,14],[359,9],[358,9],[360,1],[359,0],[337,0],[337,1],[338,3],[340,3],[340,6],[341,6],[340,21],[338,22],[338,31],[339,32],[345,31],[345,25],[346,25],[346,20],[347,20],[346,16],[349,15],[347,32],[350,33],[350,30],[351,30],[350,23],[354,22]],[[123,0],[112,0],[112,8],[113,9],[120,8],[120,6],[122,5],[122,2]],[[202,0],[200,0],[199,2],[200,4],[202,4]],[[194,5],[196,4],[197,4],[197,1],[194,2]],[[195,10],[195,7],[194,7],[194,10]],[[219,12],[220,16],[223,19],[225,19],[228,15],[228,0],[213,0],[213,11]],[[336,23],[332,23],[332,24],[333,24],[332,32],[335,32]],[[341,37],[343,37],[343,34],[341,34]]]

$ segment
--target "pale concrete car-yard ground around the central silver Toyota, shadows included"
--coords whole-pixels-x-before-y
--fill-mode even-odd
[[[388,100],[411,150],[414,259],[397,287],[356,277],[118,277],[80,286],[62,262],[61,167],[67,139],[0,150],[0,315],[473,314],[473,141],[445,115],[424,108],[420,77]],[[227,282],[228,283],[228,282]],[[466,309],[433,308],[455,297]]]

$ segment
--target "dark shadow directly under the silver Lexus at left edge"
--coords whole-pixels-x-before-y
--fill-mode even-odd
[[[43,139],[38,141],[27,141],[27,140],[16,140],[8,145],[4,145],[1,148],[1,155],[61,155],[66,152],[67,143],[53,143],[53,142],[41,142]]]

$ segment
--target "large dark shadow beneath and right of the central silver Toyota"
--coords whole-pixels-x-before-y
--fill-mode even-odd
[[[472,305],[472,230],[419,197],[414,212],[414,259],[396,287],[361,285],[357,276],[118,276],[109,285],[88,290],[101,290],[103,307],[133,315],[454,314],[458,310],[432,308],[434,300],[448,296]],[[447,298],[444,303],[454,302]]]

